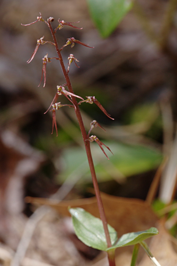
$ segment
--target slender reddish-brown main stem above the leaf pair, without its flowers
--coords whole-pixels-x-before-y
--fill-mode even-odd
[[[48,20],[48,26],[50,28],[50,32],[51,32],[52,37],[53,37],[55,48],[56,48],[56,51],[57,51],[57,54],[58,54],[58,57],[59,57],[59,60],[60,60],[60,65],[61,65],[63,74],[65,76],[65,80],[66,80],[66,84],[68,86],[69,92],[74,93],[73,92],[73,88],[71,86],[71,82],[70,82],[69,76],[68,76],[68,74],[66,72],[66,69],[65,69],[65,66],[64,66],[64,63],[63,63],[61,52],[60,52],[60,50],[58,48],[58,43],[57,43],[57,40],[56,40],[56,36],[54,34],[53,28],[52,28],[51,23],[50,23],[49,20]],[[88,161],[89,161],[90,172],[91,172],[91,176],[92,176],[92,182],[93,182],[93,186],[94,186],[94,190],[95,190],[95,195],[96,195],[96,199],[97,199],[97,204],[98,204],[98,209],[99,209],[99,213],[100,213],[100,218],[101,218],[101,220],[103,222],[103,228],[104,228],[104,232],[105,232],[105,235],[106,235],[107,246],[111,247],[112,245],[111,245],[111,239],[110,239],[110,236],[109,236],[106,215],[105,215],[105,212],[104,212],[103,202],[102,202],[102,199],[101,199],[99,186],[98,186],[98,181],[96,179],[95,168],[94,168],[93,159],[92,159],[92,155],[91,155],[90,142],[86,141],[86,139],[88,139],[88,137],[87,137],[87,133],[86,133],[86,130],[85,130],[85,127],[84,127],[84,124],[83,124],[83,120],[82,120],[81,113],[80,113],[80,110],[79,110],[79,107],[78,107],[78,103],[77,103],[77,101],[76,101],[74,96],[71,96],[71,99],[72,99],[74,105],[76,106],[75,114],[77,116],[77,120],[78,120],[80,129],[81,129],[81,133],[82,133],[82,137],[83,137],[83,141],[84,141],[84,145],[85,145],[85,149],[86,149],[86,153],[87,153],[87,158],[88,158]]]

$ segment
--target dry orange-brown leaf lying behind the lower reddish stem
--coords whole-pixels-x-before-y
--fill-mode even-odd
[[[101,193],[108,223],[116,229],[118,235],[127,232],[146,230],[155,226],[158,218],[145,201],[132,198],[121,198]],[[81,207],[95,217],[99,217],[96,197],[79,200],[61,201],[27,197],[27,202],[45,204],[62,215],[70,215],[68,206]]]

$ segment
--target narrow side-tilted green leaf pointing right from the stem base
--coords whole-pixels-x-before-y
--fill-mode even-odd
[[[106,251],[114,249],[114,248],[118,248],[118,247],[132,246],[132,245],[138,244],[151,236],[157,235],[158,233],[159,232],[157,228],[151,227],[145,231],[124,234],[119,238],[119,240],[117,241],[115,245],[113,245],[110,248],[107,248]]]

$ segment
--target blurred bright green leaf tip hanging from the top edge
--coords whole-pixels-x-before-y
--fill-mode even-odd
[[[132,7],[131,0],[87,0],[91,17],[103,38],[108,37]]]

